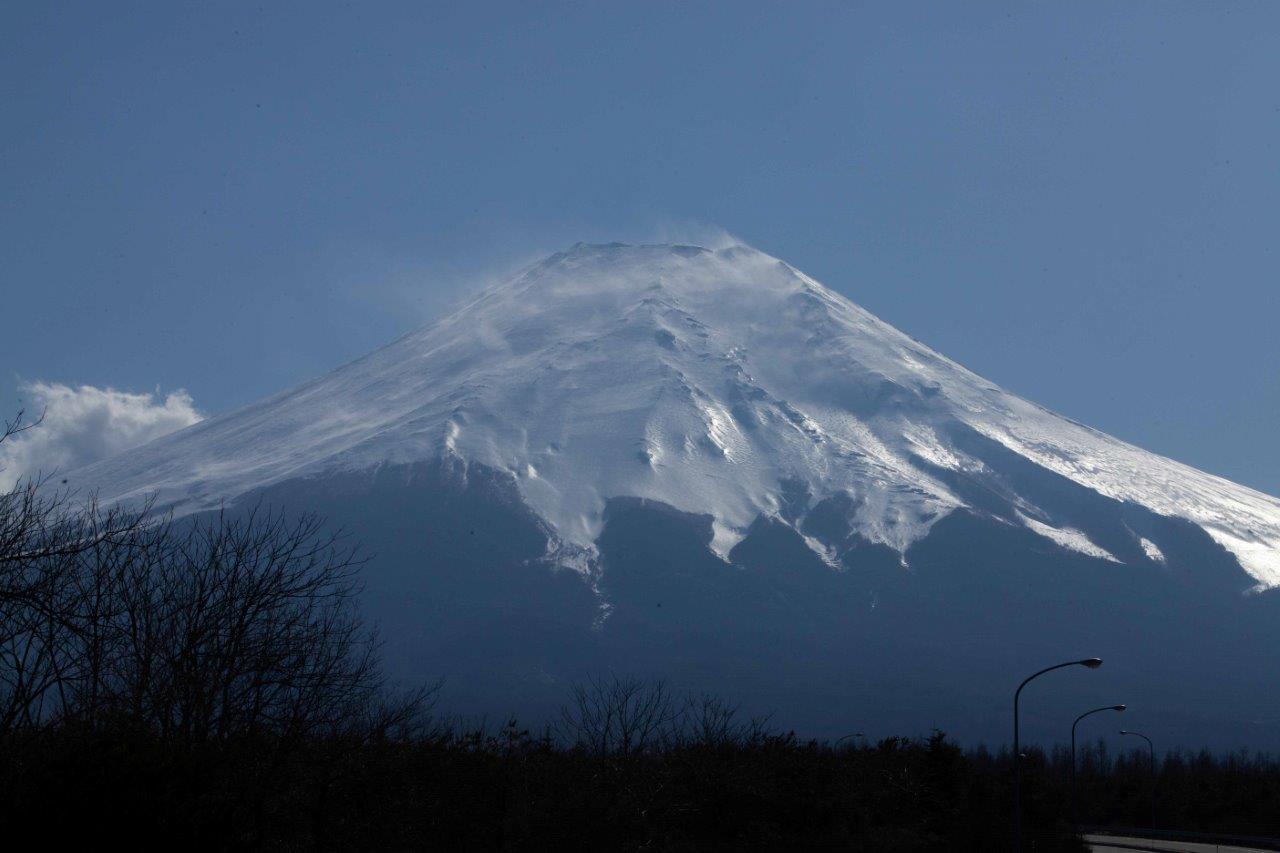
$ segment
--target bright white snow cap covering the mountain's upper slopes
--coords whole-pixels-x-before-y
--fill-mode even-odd
[[[605,501],[623,496],[712,515],[726,555],[759,515],[795,521],[847,493],[854,530],[905,553],[964,506],[931,471],[987,476],[948,439],[957,425],[1194,521],[1260,587],[1280,585],[1276,498],[1015,397],[745,246],[575,246],[358,361],[72,482],[198,510],[296,476],[453,457],[509,471],[566,561],[590,558]],[[1115,560],[1029,502],[1019,515]]]

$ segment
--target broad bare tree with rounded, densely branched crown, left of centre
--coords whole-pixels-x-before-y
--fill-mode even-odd
[[[128,544],[82,555],[91,565],[78,573],[74,633],[92,704],[74,713],[205,742],[338,733],[379,701],[378,640],[356,602],[360,560],[316,516],[219,512]],[[114,585],[99,607],[104,584]]]

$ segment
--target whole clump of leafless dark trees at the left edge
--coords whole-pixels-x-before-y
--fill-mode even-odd
[[[19,415],[0,441],[32,425]],[[19,482],[0,494],[0,734],[46,722],[187,743],[407,731],[434,688],[387,692],[357,607],[361,565],[314,515],[174,521]]]

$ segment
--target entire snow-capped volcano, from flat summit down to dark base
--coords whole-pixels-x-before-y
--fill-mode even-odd
[[[462,711],[536,721],[614,670],[805,734],[1000,739],[1021,675],[1097,654],[1037,685],[1028,725],[1128,702],[1183,742],[1280,745],[1280,500],[746,246],[580,243],[68,479],[320,512],[371,555],[389,663]]]

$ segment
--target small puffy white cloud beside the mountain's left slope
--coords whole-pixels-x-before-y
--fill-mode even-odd
[[[0,444],[0,488],[38,473],[68,471],[145,444],[201,420],[186,391],[129,393],[113,388],[31,382],[27,414],[44,421]]]

